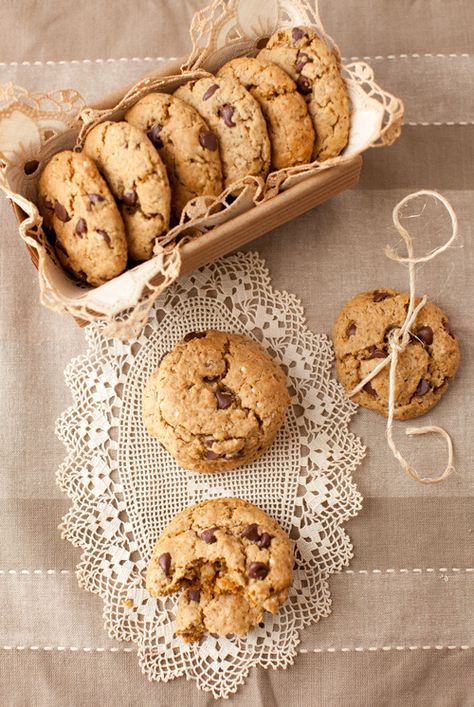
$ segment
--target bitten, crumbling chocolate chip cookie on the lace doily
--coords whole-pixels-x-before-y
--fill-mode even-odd
[[[152,596],[183,590],[176,635],[245,635],[264,611],[276,613],[293,581],[287,535],[264,511],[238,498],[204,501],[178,513],[155,545],[146,575]]]

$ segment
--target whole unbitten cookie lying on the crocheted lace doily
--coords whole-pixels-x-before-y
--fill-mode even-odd
[[[260,344],[239,334],[192,332],[148,380],[143,419],[180,466],[212,473],[260,456],[288,403],[286,376]]]

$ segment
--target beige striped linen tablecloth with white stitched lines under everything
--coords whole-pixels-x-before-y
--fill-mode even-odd
[[[74,87],[93,101],[186,53],[189,21],[203,4],[4,0],[1,81],[36,91]],[[472,705],[474,5],[324,0],[321,12],[343,55],[367,57],[381,85],[403,97],[407,123],[394,147],[366,155],[356,190],[252,247],[266,258],[274,286],[301,298],[310,327],[329,332],[353,293],[406,287],[406,271],[383,255],[384,244],[397,241],[397,200],[418,188],[447,195],[463,248],[423,267],[418,291],[446,310],[461,340],[459,376],[427,416],[451,432],[457,473],[439,486],[415,484],[386,448],[383,419],[358,412],[353,429],[368,447],[356,475],[365,503],[347,526],[354,560],[331,580],[333,613],[303,632],[293,667],[253,670],[229,702]],[[212,704],[184,680],[149,684],[134,649],[103,631],[101,601],[77,587],[79,551],[57,531],[69,501],[55,486],[64,449],[53,426],[70,403],[63,369],[84,351],[84,334],[39,305],[36,275],[4,200],[0,212],[0,702]],[[427,234],[418,247],[434,242]],[[441,443],[401,444],[421,472],[441,468]]]

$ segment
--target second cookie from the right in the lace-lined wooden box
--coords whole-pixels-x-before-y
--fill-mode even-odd
[[[259,59],[238,57],[224,64],[217,75],[237,79],[258,101],[267,122],[272,169],[311,162],[313,124],[303,96],[283,69]]]

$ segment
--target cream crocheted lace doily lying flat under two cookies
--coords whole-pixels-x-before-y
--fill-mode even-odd
[[[181,470],[145,431],[147,377],[187,332],[223,329],[262,342],[288,372],[293,404],[271,449],[257,462],[208,475]],[[79,583],[104,600],[109,634],[138,646],[153,680],[192,678],[215,697],[235,692],[250,668],[293,662],[301,629],[330,613],[330,574],[349,563],[343,523],[361,496],[351,474],[364,447],[348,424],[356,406],[331,377],[329,339],[308,331],[294,295],[274,291],[256,253],[217,261],[172,285],[138,339],[86,329],[88,351],[66,368],[74,404],[57,423],[67,448],[58,483],[73,501],[62,525],[83,549]],[[184,507],[237,496],[265,509],[294,542],[295,580],[286,604],[245,638],[173,635],[177,597],[152,598],[144,572],[164,526]]]

